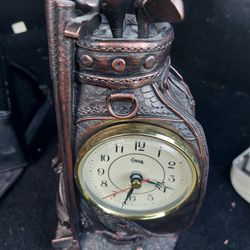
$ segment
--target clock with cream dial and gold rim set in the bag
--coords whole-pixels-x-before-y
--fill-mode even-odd
[[[178,147],[176,136],[165,129],[161,133],[151,125],[138,128],[127,124],[125,130],[113,128],[108,138],[104,133],[100,140],[90,139],[88,143],[95,143],[83,147],[77,183],[85,198],[105,212],[135,219],[157,218],[190,197],[198,170],[192,155],[184,150],[184,141]]]

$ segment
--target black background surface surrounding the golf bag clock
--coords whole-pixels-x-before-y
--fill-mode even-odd
[[[0,43],[12,61],[49,91],[44,16],[42,0],[2,1]],[[11,24],[18,21],[25,22],[28,32],[13,34]],[[233,190],[229,174],[232,160],[250,144],[250,2],[186,1],[186,20],[174,27],[172,64],[194,95],[211,160],[201,212],[181,236],[177,250],[249,250],[250,205]],[[57,177],[50,169],[56,154],[52,109],[31,150],[32,163],[0,200],[1,250],[51,249],[57,190]]]

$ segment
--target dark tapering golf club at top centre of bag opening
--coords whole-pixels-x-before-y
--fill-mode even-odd
[[[123,36],[123,22],[132,0],[101,0],[101,8],[106,16],[113,37]]]

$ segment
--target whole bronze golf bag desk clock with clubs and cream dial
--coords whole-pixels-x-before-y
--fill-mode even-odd
[[[47,0],[46,11],[59,136],[53,246],[173,249],[208,172],[194,100],[170,66],[181,1]]]

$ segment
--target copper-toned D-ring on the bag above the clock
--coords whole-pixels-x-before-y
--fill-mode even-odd
[[[132,110],[130,113],[125,114],[125,115],[121,115],[121,114],[117,114],[115,113],[115,111],[112,108],[112,102],[115,101],[128,101],[132,103]],[[111,94],[108,98],[107,98],[107,109],[108,112],[115,118],[118,119],[129,119],[129,118],[133,118],[138,110],[139,110],[139,103],[138,100],[136,99],[136,97],[133,94]]]

